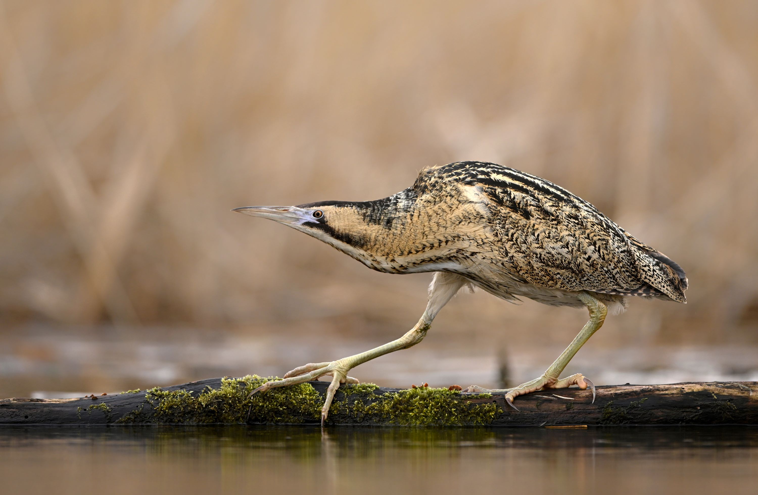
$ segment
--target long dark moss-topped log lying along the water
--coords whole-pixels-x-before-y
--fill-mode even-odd
[[[317,424],[327,382],[283,387],[247,399],[258,377],[213,378],[189,384],[83,399],[3,399],[0,424],[105,425],[244,422]],[[503,396],[445,389],[399,390],[343,386],[329,423],[337,425],[723,425],[758,424],[758,382],[543,390],[518,397],[520,412]],[[562,397],[556,397],[553,392]],[[346,393],[348,394],[346,396]],[[572,400],[573,399],[573,400]],[[252,407],[251,407],[252,405]]]

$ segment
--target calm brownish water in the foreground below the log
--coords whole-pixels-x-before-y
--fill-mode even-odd
[[[2,493],[756,493],[758,428],[0,428]]]

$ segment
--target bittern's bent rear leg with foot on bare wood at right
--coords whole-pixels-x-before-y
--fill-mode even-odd
[[[581,299],[581,302],[584,302],[584,305],[587,306],[587,309],[590,312],[590,320],[584,324],[584,328],[582,328],[579,334],[574,340],[572,340],[572,343],[566,347],[561,355],[558,356],[558,359],[550,365],[550,368],[547,368],[547,371],[545,371],[540,378],[528,381],[518,387],[503,390],[487,390],[482,387],[477,387],[476,385],[471,385],[471,387],[465,389],[464,392],[505,393],[506,402],[509,403],[513,409],[518,411],[518,408],[513,406],[513,399],[517,396],[542,390],[543,388],[565,388],[571,387],[572,385],[578,385],[581,389],[590,387],[592,389],[592,402],[595,402],[595,385],[589,379],[584,378],[583,374],[577,373],[572,374],[570,377],[558,378],[566,365],[568,365],[568,362],[571,361],[578,350],[581,349],[581,346],[592,337],[592,334],[597,332],[597,330],[603,326],[603,321],[605,321],[606,315],[608,314],[606,305],[593,296],[590,296],[590,294],[583,291],[578,293],[578,297]]]

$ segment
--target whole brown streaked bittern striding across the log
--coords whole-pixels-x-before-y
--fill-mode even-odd
[[[340,384],[371,359],[421,342],[437,313],[461,287],[481,287],[506,301],[525,296],[548,305],[586,306],[590,320],[540,378],[505,390],[594,384],[581,373],[559,375],[627,296],[685,302],[687,277],[675,262],[641,243],[584,199],[548,180],[493,163],[461,161],[427,168],[413,186],[376,201],[236,208],[270,218],[334,246],[368,268],[391,274],[434,271],[424,314],[397,340],[355,356],[295,368],[252,393],[331,375],[321,422]],[[515,409],[515,406],[513,406]],[[518,409],[516,409],[518,410]]]

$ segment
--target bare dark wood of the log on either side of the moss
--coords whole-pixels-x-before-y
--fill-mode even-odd
[[[322,395],[328,386],[327,382],[311,383]],[[221,378],[211,378],[163,390],[197,393],[206,386],[218,388],[220,385]],[[381,388],[377,393],[397,390]],[[758,425],[758,382],[752,381],[609,385],[597,388],[595,403],[590,402],[590,390],[542,390],[518,397],[515,404],[519,412],[509,409],[503,396],[485,399],[463,394],[463,398],[473,403],[498,403],[503,412],[493,421],[493,426]],[[108,406],[109,411],[89,407],[99,404]],[[95,396],[94,399],[2,399],[0,425],[118,425],[120,418],[140,405],[145,408],[148,418],[145,422],[149,423],[151,408],[144,392]],[[254,420],[251,418],[251,422]],[[313,420],[304,419],[302,424],[313,424]]]

